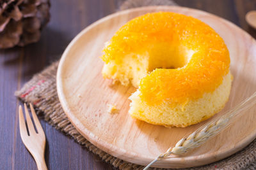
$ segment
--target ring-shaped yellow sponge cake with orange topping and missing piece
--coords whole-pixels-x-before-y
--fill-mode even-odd
[[[232,75],[223,39],[204,22],[172,12],[148,13],[106,43],[104,78],[138,87],[129,113],[150,124],[186,127],[228,101]]]

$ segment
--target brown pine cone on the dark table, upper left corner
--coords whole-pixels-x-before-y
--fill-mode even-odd
[[[0,0],[0,48],[38,41],[49,22],[49,8],[49,0]]]

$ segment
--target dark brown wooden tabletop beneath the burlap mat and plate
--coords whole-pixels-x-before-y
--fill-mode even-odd
[[[247,11],[256,10],[255,0],[175,2],[214,13],[256,37],[256,31],[244,20]],[[17,110],[20,102],[13,95],[15,90],[20,89],[33,74],[60,59],[78,32],[99,18],[114,13],[120,3],[117,0],[52,0],[51,22],[38,43],[0,50],[0,169],[36,169],[35,161],[20,139]],[[43,120],[41,123],[47,138],[45,158],[49,169],[113,169],[51,125]]]

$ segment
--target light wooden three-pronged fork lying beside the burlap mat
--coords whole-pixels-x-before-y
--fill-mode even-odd
[[[19,124],[20,124],[20,137],[26,146],[26,148],[29,150],[31,155],[33,155],[36,165],[39,170],[45,170],[47,169],[47,166],[45,164],[44,160],[44,150],[45,150],[45,134],[44,130],[36,116],[35,110],[31,103],[29,103],[31,113],[35,122],[35,126],[37,129],[37,132],[35,131],[35,127],[32,123],[32,120],[28,113],[28,108],[26,104],[24,103],[25,108],[25,115],[27,120],[28,129],[25,124],[22,107],[19,106]]]

